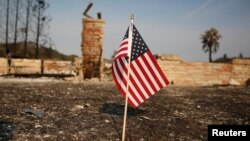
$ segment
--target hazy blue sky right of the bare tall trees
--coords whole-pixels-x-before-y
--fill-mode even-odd
[[[81,56],[82,13],[90,0],[50,0],[55,49]],[[110,58],[135,15],[135,25],[151,51],[179,54],[185,61],[207,61],[201,33],[215,27],[222,35],[213,58],[250,57],[249,0],[91,0],[89,15],[105,20],[104,57]]]

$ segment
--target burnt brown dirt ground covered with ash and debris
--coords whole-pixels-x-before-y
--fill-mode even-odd
[[[0,140],[121,140],[113,82],[1,82]],[[250,124],[250,87],[168,86],[128,109],[126,140],[207,140],[208,124]]]

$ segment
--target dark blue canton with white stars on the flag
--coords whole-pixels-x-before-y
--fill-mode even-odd
[[[131,48],[131,61],[135,60],[137,57],[141,56],[145,52],[147,52],[149,49],[142,39],[140,33],[136,29],[135,26],[133,26],[133,41],[132,41],[132,48]]]

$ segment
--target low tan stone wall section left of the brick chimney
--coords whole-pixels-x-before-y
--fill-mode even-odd
[[[76,75],[71,61],[40,59],[11,59],[9,66],[6,58],[0,58],[0,75]]]

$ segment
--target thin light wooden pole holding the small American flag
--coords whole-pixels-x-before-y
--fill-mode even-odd
[[[127,74],[127,86],[126,86],[126,99],[124,107],[124,117],[123,117],[123,128],[122,128],[122,141],[125,141],[125,131],[126,131],[126,122],[127,122],[127,111],[128,111],[128,89],[129,89],[129,76],[130,76],[130,59],[131,59],[131,47],[132,47],[132,38],[133,38],[133,25],[134,25],[134,15],[131,16],[131,23],[129,26],[128,34],[128,74]]]

